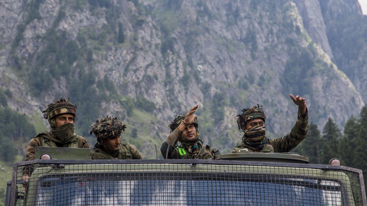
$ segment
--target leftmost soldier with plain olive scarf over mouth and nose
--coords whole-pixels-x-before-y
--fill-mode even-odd
[[[34,159],[35,147],[89,148],[87,140],[74,133],[75,110],[75,104],[63,97],[48,104],[48,108],[42,113],[51,130],[42,132],[29,141],[24,161]],[[33,167],[24,168],[22,180],[28,181],[32,172]]]

